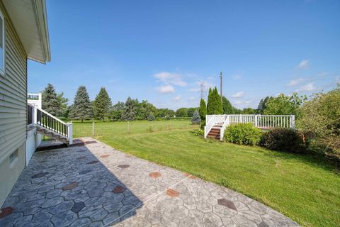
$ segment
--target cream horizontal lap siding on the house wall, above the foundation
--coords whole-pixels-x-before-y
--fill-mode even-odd
[[[0,163],[26,140],[27,55],[10,18],[5,17],[5,75],[0,76]]]

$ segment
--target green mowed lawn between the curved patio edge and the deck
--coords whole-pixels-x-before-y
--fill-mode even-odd
[[[75,137],[91,136],[75,123]],[[193,135],[188,121],[96,123],[96,138],[137,157],[246,194],[302,226],[340,226],[340,175],[322,158],[246,147]]]

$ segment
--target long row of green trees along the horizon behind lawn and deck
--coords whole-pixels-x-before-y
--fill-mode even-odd
[[[96,118],[101,121],[134,121],[150,120],[155,118],[173,118],[173,117],[193,117],[197,110],[202,124],[205,124],[206,114],[299,114],[299,106],[307,98],[305,96],[292,96],[280,94],[278,97],[266,96],[261,99],[257,109],[245,108],[237,109],[230,101],[222,96],[222,101],[217,88],[210,88],[208,92],[208,101],[200,100],[199,107],[180,108],[176,111],[171,109],[157,109],[147,100],[139,101],[128,97],[125,102],[118,101],[112,104],[111,98],[106,92],[105,87],[101,87],[96,95],[96,99],[90,100],[85,86],[80,86],[74,97],[74,103],[67,105],[68,99],[64,98],[63,93],[57,94],[52,84],[42,92],[42,109],[54,116],[77,119]],[[197,118],[197,116],[196,116]]]

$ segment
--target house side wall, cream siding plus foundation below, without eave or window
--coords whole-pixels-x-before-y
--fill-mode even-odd
[[[0,1],[5,21],[5,66],[0,75],[0,206],[26,165],[27,55]]]

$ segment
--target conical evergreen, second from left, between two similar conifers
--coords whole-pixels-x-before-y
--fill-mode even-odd
[[[91,109],[92,105],[89,98],[89,94],[86,91],[86,87],[80,86],[78,88],[76,96],[74,97],[72,115],[74,118],[81,119],[81,122],[83,122],[85,118],[90,117]]]

